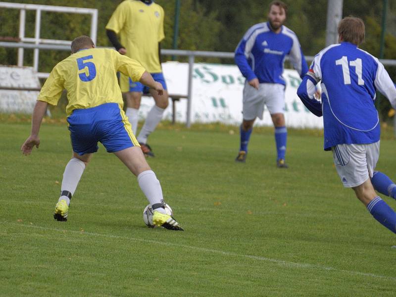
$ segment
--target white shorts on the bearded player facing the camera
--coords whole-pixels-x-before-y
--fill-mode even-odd
[[[270,114],[285,112],[285,86],[260,84],[258,90],[245,83],[243,101],[244,120],[263,119],[264,104]]]

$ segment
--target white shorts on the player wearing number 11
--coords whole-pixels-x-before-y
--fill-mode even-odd
[[[380,156],[380,142],[332,147],[334,164],[344,187],[352,188],[373,177]]]

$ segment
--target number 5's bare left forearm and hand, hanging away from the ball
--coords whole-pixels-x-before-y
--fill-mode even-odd
[[[32,115],[32,132],[30,136],[25,140],[21,147],[21,151],[24,155],[28,155],[32,152],[32,149],[36,146],[39,148],[40,145],[40,138],[39,138],[39,131],[40,125],[43,121],[43,117],[46,114],[47,110],[47,102],[44,101],[37,101],[36,105],[33,110]]]

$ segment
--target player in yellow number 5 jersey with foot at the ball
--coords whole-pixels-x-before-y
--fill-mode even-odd
[[[117,71],[132,77],[162,94],[162,85],[136,60],[113,49],[95,49],[88,36],[80,36],[71,44],[72,54],[59,62],[40,91],[32,115],[31,135],[21,147],[28,155],[40,145],[39,131],[47,105],[56,105],[66,89],[66,106],[73,157],[63,173],[61,194],[53,217],[66,221],[70,199],[98,142],[113,152],[138,177],[138,183],[151,204],[153,223],[171,230],[183,230],[167,215],[158,179],[151,171],[137,142],[131,125],[122,110],[123,100],[117,82]]]

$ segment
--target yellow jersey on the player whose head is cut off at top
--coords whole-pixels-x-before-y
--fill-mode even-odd
[[[164,10],[151,2],[140,0],[121,2],[110,17],[106,29],[120,35],[126,55],[138,60],[148,72],[162,72],[158,43],[165,38]]]

